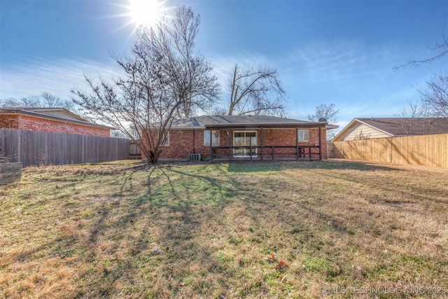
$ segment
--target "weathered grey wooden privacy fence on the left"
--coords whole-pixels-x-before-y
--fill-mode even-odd
[[[129,139],[0,129],[0,157],[23,167],[115,161],[129,154]]]

